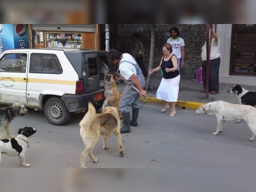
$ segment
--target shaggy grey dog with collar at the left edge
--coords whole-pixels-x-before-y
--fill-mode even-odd
[[[15,138],[15,136],[10,133],[10,123],[15,117],[24,116],[27,113],[28,109],[20,103],[14,103],[11,106],[0,108],[0,139],[3,139],[4,131],[8,138]]]

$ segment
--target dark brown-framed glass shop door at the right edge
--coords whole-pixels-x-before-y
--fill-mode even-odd
[[[232,26],[230,75],[256,76],[256,24]]]

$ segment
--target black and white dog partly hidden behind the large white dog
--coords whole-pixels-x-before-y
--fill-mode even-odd
[[[228,93],[234,93],[241,105],[251,105],[256,108],[256,92],[248,91],[241,87],[241,85],[234,85],[228,90]],[[236,123],[239,122],[239,120],[236,121]]]

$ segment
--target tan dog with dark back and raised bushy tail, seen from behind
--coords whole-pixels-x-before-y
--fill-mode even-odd
[[[107,138],[115,133],[119,144],[119,155],[124,156],[124,148],[120,134],[120,118],[115,107],[106,107],[102,110],[102,113],[96,114],[94,106],[89,102],[88,112],[84,115],[79,125],[81,127],[80,135],[86,146],[84,152],[81,154],[82,168],[86,168],[85,159],[87,154],[93,163],[98,161],[98,159],[92,155],[92,149],[98,142],[100,135],[103,140],[103,149],[107,149]]]

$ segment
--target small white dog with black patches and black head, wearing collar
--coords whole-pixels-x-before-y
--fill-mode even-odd
[[[24,127],[19,129],[18,136],[13,139],[1,139],[0,140],[0,162],[2,159],[2,154],[8,156],[19,156],[22,165],[29,167],[30,164],[27,164],[25,161],[25,153],[28,149],[28,142],[30,136],[36,132],[36,129],[32,127]]]

